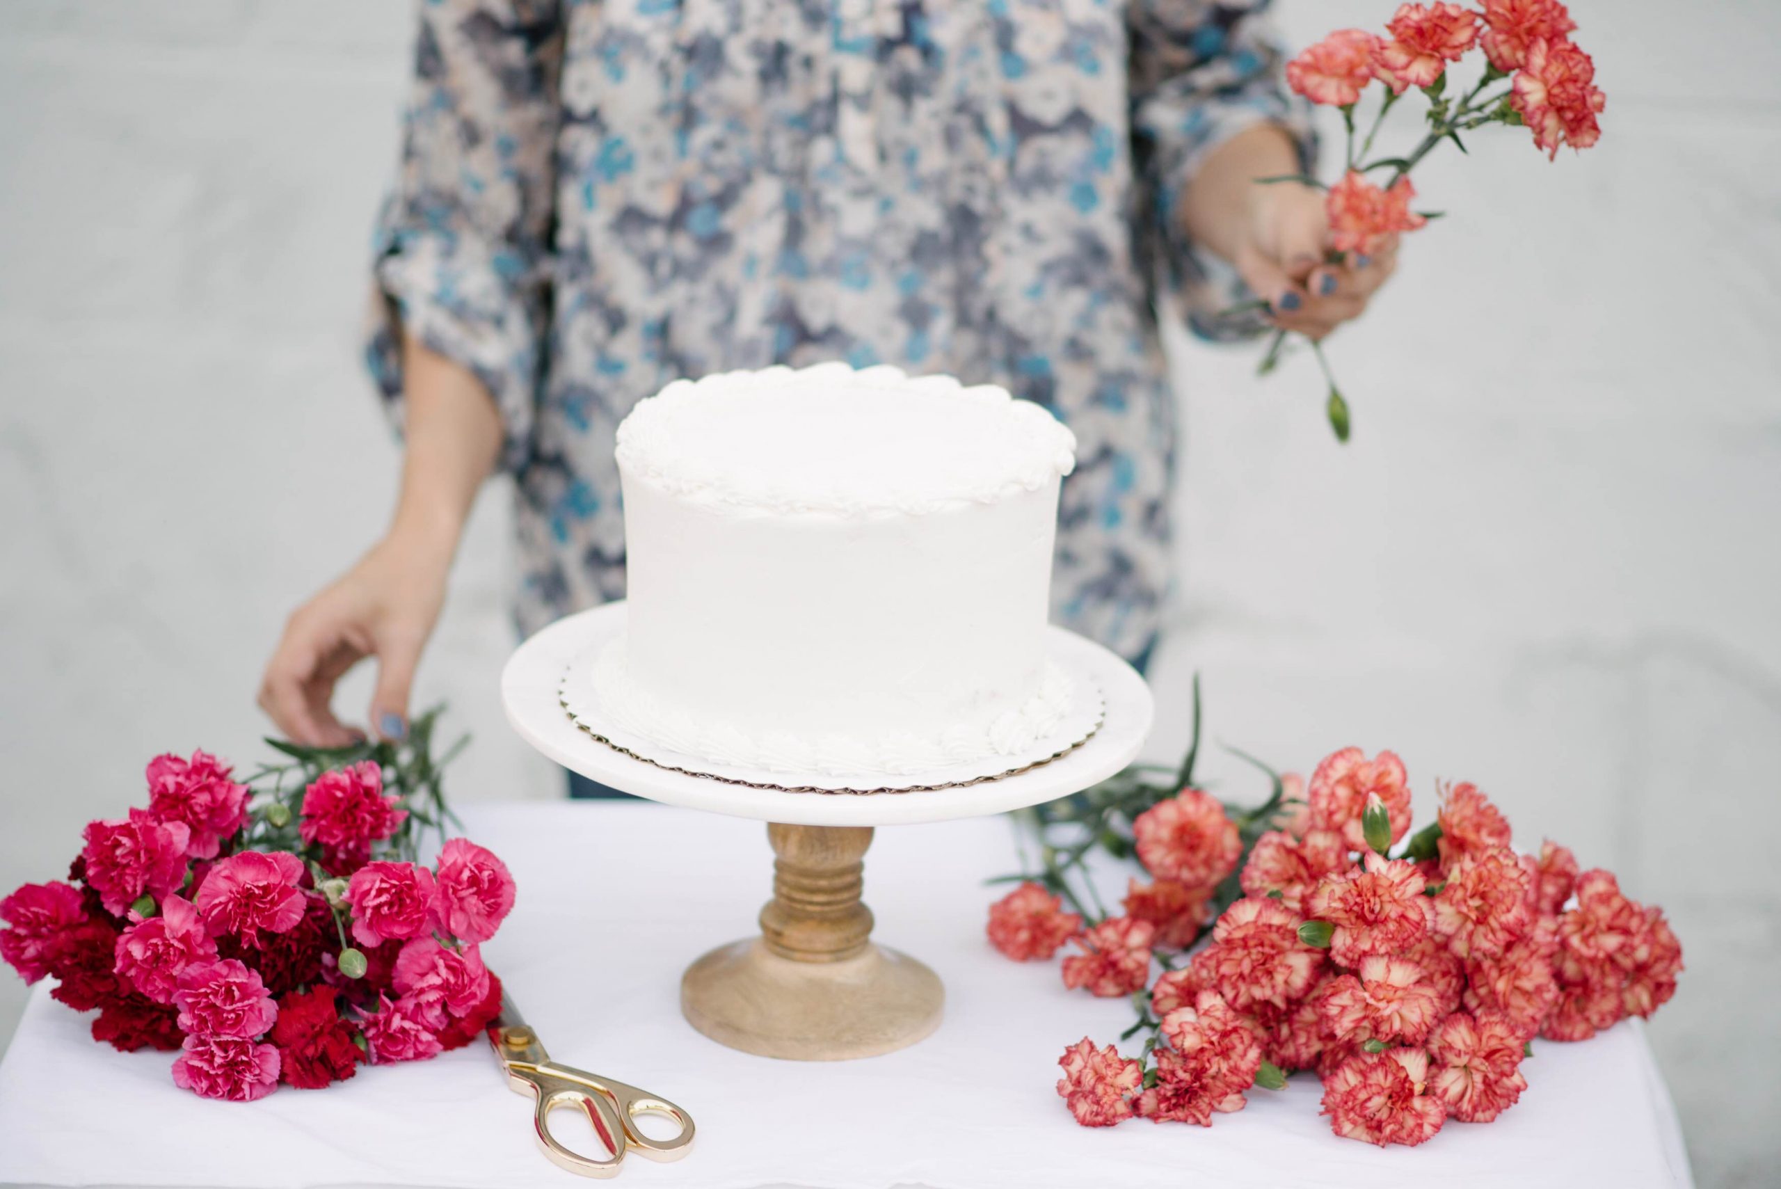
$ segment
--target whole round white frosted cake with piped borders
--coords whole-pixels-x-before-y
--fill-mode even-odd
[[[591,662],[604,716],[771,772],[1029,751],[1072,707],[1045,614],[1074,449],[1040,406],[947,376],[670,384],[618,427],[629,611]]]

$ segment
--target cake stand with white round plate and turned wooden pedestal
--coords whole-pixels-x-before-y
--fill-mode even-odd
[[[711,950],[680,979],[680,1009],[695,1029],[764,1057],[871,1057],[940,1025],[940,977],[871,942],[873,911],[860,892],[874,826],[983,817],[1065,797],[1131,764],[1151,730],[1143,678],[1099,644],[1051,628],[1049,644],[1083,664],[1106,710],[1085,744],[1037,767],[974,785],[878,794],[789,792],[677,772],[590,737],[557,700],[565,667],[609,639],[622,611],[623,603],[609,603],[568,616],[520,644],[500,675],[508,721],[533,748],[590,780],[769,822],[773,899],[760,910],[760,934]],[[972,917],[960,927],[976,931],[980,922]]]

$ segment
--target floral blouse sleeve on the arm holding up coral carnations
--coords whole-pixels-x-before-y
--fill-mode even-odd
[[[1140,185],[1140,242],[1152,276],[1204,338],[1261,333],[1259,315],[1216,317],[1250,297],[1236,271],[1199,249],[1181,196],[1200,162],[1256,123],[1282,126],[1300,167],[1316,153],[1309,105],[1281,85],[1284,53],[1268,0],[1138,0],[1131,7],[1131,132]]]

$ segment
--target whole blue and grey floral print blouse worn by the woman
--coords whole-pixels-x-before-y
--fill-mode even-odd
[[[392,408],[399,324],[493,393],[520,628],[623,596],[613,434],[639,399],[846,360],[1069,424],[1054,619],[1142,653],[1175,436],[1152,301],[1236,295],[1175,203],[1252,123],[1305,135],[1263,9],[426,0],[369,354]]]

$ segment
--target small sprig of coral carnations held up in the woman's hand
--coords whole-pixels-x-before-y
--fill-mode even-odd
[[[1327,194],[1330,258],[1366,256],[1387,237],[1416,231],[1434,212],[1412,210],[1416,187],[1411,171],[1435,148],[1452,142],[1466,150],[1460,133],[1489,125],[1526,128],[1548,158],[1558,150],[1585,150],[1601,137],[1598,116],[1603,93],[1596,87],[1596,64],[1571,34],[1576,21],[1558,0],[1480,0],[1460,4],[1403,4],[1382,34],[1341,28],[1286,66],[1286,82],[1313,103],[1341,110],[1346,130],[1343,174],[1334,185],[1311,176],[1265,178],[1304,182]],[[1453,82],[1468,71],[1476,50],[1482,71],[1471,85]],[[1386,116],[1405,94],[1419,93],[1423,137],[1402,155],[1373,155]],[[1377,94],[1377,101],[1370,96]],[[1364,135],[1357,114],[1371,101],[1373,117]],[[1240,306],[1250,311],[1266,303]],[[1286,333],[1273,336],[1261,372],[1273,370]],[[1329,361],[1311,344],[1329,381],[1325,404],[1330,427],[1348,440],[1350,413]]]

